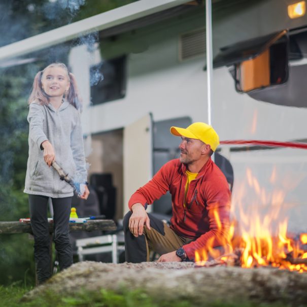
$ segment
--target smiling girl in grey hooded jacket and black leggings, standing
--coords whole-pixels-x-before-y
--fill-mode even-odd
[[[69,219],[73,188],[51,166],[56,161],[70,177],[86,183],[87,171],[80,125],[76,79],[63,63],[48,65],[35,76],[29,100],[29,157],[24,192],[29,194],[31,227],[38,283],[51,276],[48,200],[51,197],[54,242],[59,267],[73,263]],[[87,199],[85,186],[80,196]]]

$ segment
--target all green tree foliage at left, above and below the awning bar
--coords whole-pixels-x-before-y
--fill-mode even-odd
[[[0,47],[134,1],[1,1]],[[27,98],[35,74],[51,61],[66,62],[70,47],[55,46],[27,55],[36,58],[29,64],[0,62],[1,221],[17,221],[29,215],[27,195],[23,193],[28,157]],[[32,245],[27,234],[0,235],[0,284],[34,283]]]

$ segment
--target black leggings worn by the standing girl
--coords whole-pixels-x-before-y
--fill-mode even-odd
[[[50,237],[47,220],[48,196],[29,194],[31,227],[34,235],[34,258],[38,283],[51,277]],[[69,219],[72,197],[51,198],[53,207],[53,240],[58,253],[59,267],[64,269],[73,264],[70,243]]]

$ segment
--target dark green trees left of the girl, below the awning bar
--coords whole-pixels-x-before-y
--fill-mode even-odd
[[[32,80],[27,66],[11,67],[0,74],[0,219],[28,217],[23,193],[27,162],[27,96]],[[27,234],[0,235],[0,283],[34,281],[32,242]]]

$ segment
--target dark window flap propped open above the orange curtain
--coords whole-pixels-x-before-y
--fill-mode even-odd
[[[287,35],[287,30],[223,47],[214,58],[213,66],[215,68],[231,66],[243,60],[254,58],[285,35]]]

